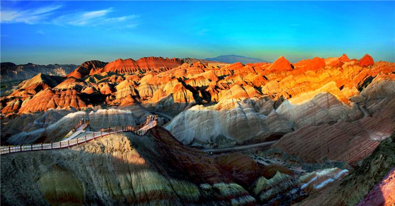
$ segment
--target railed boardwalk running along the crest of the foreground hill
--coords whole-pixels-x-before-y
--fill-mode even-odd
[[[150,119],[149,119],[150,118]],[[33,150],[51,150],[51,149],[60,149],[71,147],[74,145],[78,145],[81,143],[88,142],[92,139],[97,139],[99,137],[107,136],[110,134],[115,134],[118,132],[131,131],[139,136],[143,136],[147,133],[147,131],[154,126],[157,125],[157,117],[153,116],[152,121],[151,117],[147,117],[147,120],[144,124],[138,126],[116,126],[111,128],[102,128],[100,131],[93,132],[91,134],[85,135],[83,137],[60,141],[60,142],[52,142],[52,143],[41,143],[41,144],[30,144],[30,145],[18,145],[18,146],[2,146],[0,147],[0,154],[8,154],[14,152],[25,152],[25,151],[33,151]]]

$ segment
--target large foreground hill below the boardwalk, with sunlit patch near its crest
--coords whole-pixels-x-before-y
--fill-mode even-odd
[[[256,205],[212,158],[161,128],[1,156],[1,171],[5,205]]]

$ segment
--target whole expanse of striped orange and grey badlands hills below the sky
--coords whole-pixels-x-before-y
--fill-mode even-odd
[[[159,126],[143,137],[1,156],[5,205],[320,205],[323,195],[333,198],[322,205],[363,205],[393,176],[390,161],[385,171],[372,168],[368,183],[359,179],[395,132],[395,63],[368,54],[251,64],[93,60],[53,75],[6,88],[1,145],[60,141],[82,118],[97,131],[153,113]],[[199,150],[268,141],[276,143],[243,153]],[[363,189],[339,192],[355,181]]]

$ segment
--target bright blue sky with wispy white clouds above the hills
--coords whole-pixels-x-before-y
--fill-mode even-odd
[[[1,62],[236,54],[395,62],[395,1],[1,1]]]

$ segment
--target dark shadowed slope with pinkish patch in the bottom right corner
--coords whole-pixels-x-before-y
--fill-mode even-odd
[[[390,179],[394,167],[395,133],[383,140],[369,157],[341,181],[297,205],[394,205],[394,181]]]

